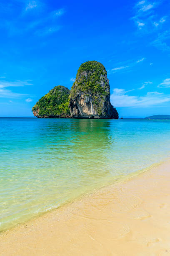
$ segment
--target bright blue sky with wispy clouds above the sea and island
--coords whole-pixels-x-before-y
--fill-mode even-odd
[[[0,1],[0,116],[32,116],[80,64],[100,61],[120,117],[170,114],[170,2]]]

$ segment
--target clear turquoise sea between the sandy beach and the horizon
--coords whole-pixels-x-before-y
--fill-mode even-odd
[[[170,120],[0,118],[0,230],[170,156]]]

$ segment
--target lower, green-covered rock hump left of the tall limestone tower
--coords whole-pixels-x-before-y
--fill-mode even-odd
[[[61,85],[55,86],[32,108],[34,116],[38,118],[70,118],[69,95],[68,88]]]

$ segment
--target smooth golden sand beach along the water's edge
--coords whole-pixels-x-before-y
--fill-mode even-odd
[[[0,255],[170,255],[170,161],[1,233]]]

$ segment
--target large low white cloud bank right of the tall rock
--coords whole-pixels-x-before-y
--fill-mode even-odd
[[[147,92],[144,96],[131,96],[128,95],[128,91],[115,88],[110,95],[110,100],[115,107],[147,108],[164,102],[170,102],[170,95],[164,95],[160,92]]]

